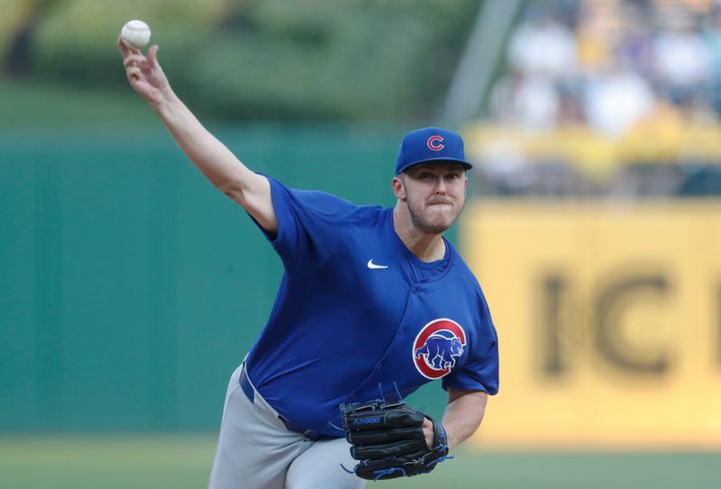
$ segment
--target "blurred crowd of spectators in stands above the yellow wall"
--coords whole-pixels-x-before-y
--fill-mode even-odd
[[[489,94],[488,113],[497,126],[535,133],[583,126],[599,138],[620,140],[644,125],[665,123],[682,130],[721,121],[721,1],[543,0],[527,5],[507,43],[507,67]],[[689,176],[698,180],[700,171],[702,188],[691,186],[688,195],[721,195],[717,164],[697,158],[691,167],[684,167],[689,161],[674,161],[675,168],[668,168],[664,161],[659,162],[664,168],[655,171],[649,161],[643,163],[639,170],[616,172],[616,179],[623,175],[616,181],[621,190],[585,179],[586,185],[551,193],[591,188],[596,193],[682,195]],[[584,180],[569,171],[557,171],[562,178],[548,173],[536,184],[545,179],[558,187],[569,178]],[[637,185],[628,185],[634,175]]]

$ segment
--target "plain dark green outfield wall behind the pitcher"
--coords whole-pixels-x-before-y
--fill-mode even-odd
[[[212,128],[289,186],[383,205],[409,129]],[[0,210],[0,430],[216,429],[282,268],[167,131],[0,134]]]

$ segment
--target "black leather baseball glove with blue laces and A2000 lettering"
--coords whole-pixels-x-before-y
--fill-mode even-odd
[[[379,481],[426,474],[439,462],[452,458],[448,457],[443,425],[402,400],[392,404],[384,400],[342,404],[341,411],[351,457],[360,460],[349,472],[363,479]],[[434,423],[432,448],[425,442],[425,418]]]

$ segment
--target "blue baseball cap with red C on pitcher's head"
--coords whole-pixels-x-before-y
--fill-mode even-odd
[[[457,161],[467,170],[473,168],[466,161],[460,134],[440,127],[425,127],[408,132],[403,138],[398,149],[396,175],[408,167],[429,161]]]

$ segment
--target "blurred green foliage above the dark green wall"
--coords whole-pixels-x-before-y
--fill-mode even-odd
[[[481,0],[5,0],[5,78],[126,84],[123,23],[151,25],[173,86],[224,119],[417,119],[439,110]],[[8,57],[25,32],[28,64]],[[16,71],[16,70],[15,70]]]

